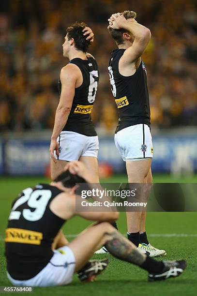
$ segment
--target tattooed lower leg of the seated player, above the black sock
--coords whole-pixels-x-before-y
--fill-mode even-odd
[[[136,265],[142,265],[146,256],[137,250],[128,239],[123,237],[119,232],[106,233],[111,237],[106,244],[106,249],[115,257]]]

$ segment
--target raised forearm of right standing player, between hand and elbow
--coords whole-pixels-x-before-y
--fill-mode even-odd
[[[135,39],[146,38],[149,40],[151,38],[151,31],[148,28],[129,19],[122,23],[122,28],[128,30]]]

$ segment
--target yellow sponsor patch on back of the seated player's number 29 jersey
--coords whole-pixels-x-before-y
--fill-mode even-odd
[[[7,228],[5,231],[5,242],[40,245],[43,234],[21,228]]]

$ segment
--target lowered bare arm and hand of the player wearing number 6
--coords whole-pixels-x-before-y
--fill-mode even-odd
[[[61,97],[56,110],[55,123],[49,148],[51,159],[54,162],[56,162],[54,150],[56,151],[56,155],[59,155],[59,145],[57,138],[66,124],[70,114],[75,96],[76,82],[79,78],[79,75],[81,75],[80,70],[74,64],[68,64],[61,69]]]

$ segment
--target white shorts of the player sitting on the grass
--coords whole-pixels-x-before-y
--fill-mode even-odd
[[[16,286],[46,287],[69,284],[75,272],[75,256],[68,246],[58,250],[53,251],[54,255],[50,262],[30,280],[14,280],[7,272],[8,279]]]

